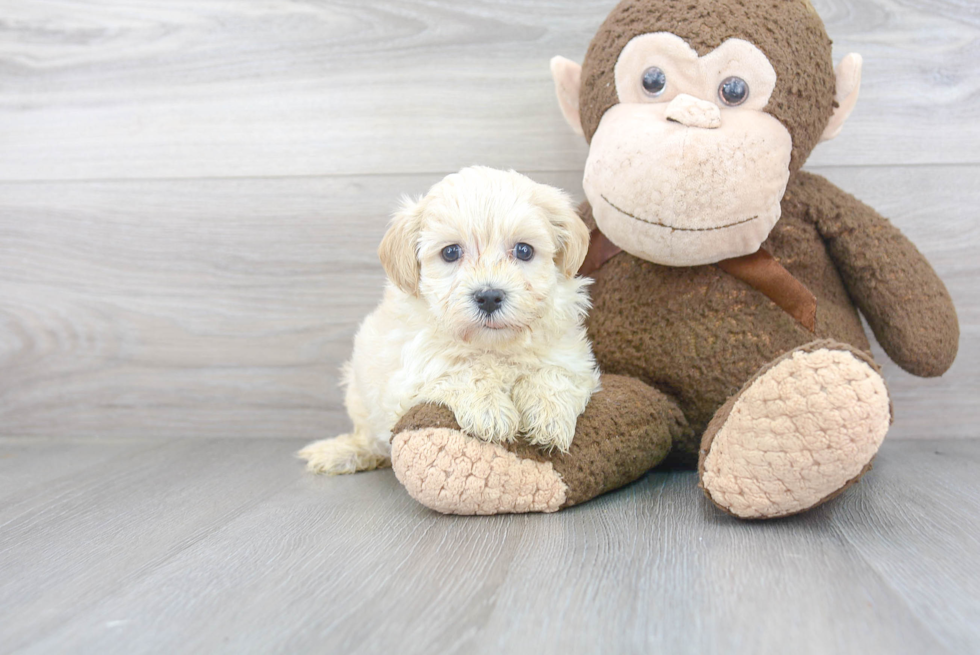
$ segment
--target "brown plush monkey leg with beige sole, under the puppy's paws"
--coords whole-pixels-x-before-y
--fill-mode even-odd
[[[395,427],[391,462],[413,498],[444,514],[554,512],[636,480],[686,430],[662,393],[604,375],[566,454],[474,439],[445,407],[420,405]]]

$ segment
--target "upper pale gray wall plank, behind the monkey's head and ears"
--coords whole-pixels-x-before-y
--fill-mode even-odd
[[[577,170],[548,61],[615,0],[15,3],[0,179]],[[815,0],[861,102],[814,165],[977,162],[971,0]]]

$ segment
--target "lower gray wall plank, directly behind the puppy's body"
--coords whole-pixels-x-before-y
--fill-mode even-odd
[[[815,170],[908,232],[959,308],[945,377],[886,364],[892,435],[976,436],[980,167]],[[440,177],[0,185],[0,434],[345,429],[337,370],[380,298],[387,214]],[[579,173],[535,177],[581,197]]]

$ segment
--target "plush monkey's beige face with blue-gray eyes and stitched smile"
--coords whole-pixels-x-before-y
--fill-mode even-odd
[[[643,34],[615,66],[619,104],[592,136],[584,188],[615,244],[668,266],[754,253],[779,220],[793,139],[763,111],[776,72],[729,39],[699,57],[667,33]]]

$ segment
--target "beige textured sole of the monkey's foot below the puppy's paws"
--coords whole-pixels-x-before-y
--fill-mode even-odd
[[[550,462],[450,428],[398,433],[391,462],[412,498],[443,514],[554,512],[565,502],[567,487]]]

